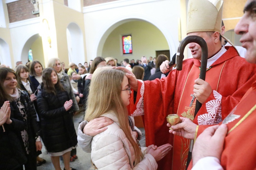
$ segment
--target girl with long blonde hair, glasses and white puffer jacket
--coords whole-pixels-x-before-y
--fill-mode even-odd
[[[157,169],[157,161],[171,149],[170,144],[140,149],[128,121],[131,90],[124,71],[96,70],[90,85],[85,120],[108,117],[113,124],[93,137],[91,160],[98,169]],[[111,100],[110,100],[111,99]],[[111,161],[110,161],[111,160]]]

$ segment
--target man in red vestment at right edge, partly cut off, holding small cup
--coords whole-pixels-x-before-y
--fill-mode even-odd
[[[246,60],[256,64],[256,0],[247,0],[244,15],[234,31],[242,35],[240,42],[247,50]],[[254,81],[220,126],[207,128],[209,125],[200,125],[195,128],[196,124],[186,118],[172,126],[175,131],[170,130],[170,133],[189,139],[200,134],[193,149],[193,169],[256,168],[256,79]],[[191,167],[192,164],[189,169]]]

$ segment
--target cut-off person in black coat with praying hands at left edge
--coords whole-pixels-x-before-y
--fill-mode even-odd
[[[2,68],[0,68],[0,77],[2,77]],[[8,78],[9,79],[9,78]],[[15,102],[10,102],[10,95],[3,88],[3,81],[0,81],[0,107],[2,109],[10,107],[8,117],[1,121],[0,125],[0,169],[23,170],[23,165],[27,162],[25,149],[20,131],[26,126]],[[4,128],[4,129],[3,129]]]

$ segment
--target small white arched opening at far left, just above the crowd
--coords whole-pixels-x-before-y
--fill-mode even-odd
[[[12,68],[9,45],[2,38],[0,38],[0,62]]]

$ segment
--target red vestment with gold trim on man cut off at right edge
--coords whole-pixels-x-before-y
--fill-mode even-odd
[[[222,123],[228,126],[221,156],[222,167],[224,169],[255,169],[256,82]],[[201,134],[205,128],[205,126],[199,126],[197,135]]]

